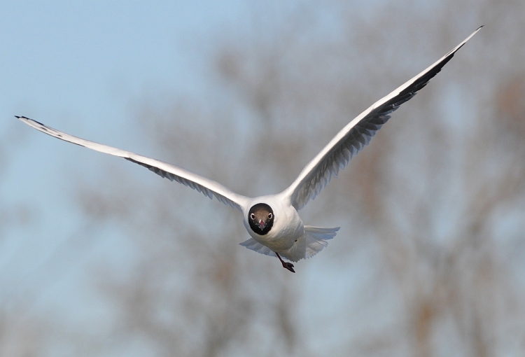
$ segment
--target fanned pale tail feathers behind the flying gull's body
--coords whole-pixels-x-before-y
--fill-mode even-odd
[[[279,251],[279,255],[292,262],[297,262],[297,260],[304,258],[311,258],[322,251],[325,246],[328,246],[327,240],[335,237],[338,230],[339,227],[312,227],[305,225],[304,235],[297,239],[291,248],[286,251]],[[243,241],[241,246],[246,246],[246,248],[257,253],[276,257],[272,249],[260,244],[253,238]]]

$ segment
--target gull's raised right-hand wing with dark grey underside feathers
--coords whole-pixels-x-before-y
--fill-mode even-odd
[[[442,67],[454,57],[456,51],[481,28],[479,27],[465,38],[465,41],[457,45],[447,55],[360,113],[357,118],[337,133],[314,160],[311,160],[302,169],[299,177],[281,195],[290,200],[290,204],[297,210],[302,209],[309,200],[313,200],[330,182],[332,176],[337,176],[339,169],[344,169],[351,158],[370,142],[370,139],[390,118],[390,114],[398,109],[401,104],[414,97],[416,92],[421,90],[430,78],[439,73]]]

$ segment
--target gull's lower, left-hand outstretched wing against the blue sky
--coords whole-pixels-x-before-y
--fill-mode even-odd
[[[146,158],[146,156],[138,155],[136,153],[130,153],[130,151],[123,151],[118,148],[112,148],[111,146],[97,144],[93,141],[73,137],[73,135],[69,135],[64,132],[59,132],[58,130],[53,129],[52,127],[47,127],[42,123],[38,123],[36,120],[32,120],[24,116],[17,116],[16,118],[22,120],[22,122],[26,123],[27,125],[34,127],[36,130],[39,130],[57,139],[69,141],[70,143],[84,146],[94,151],[99,151],[101,153],[125,158],[128,161],[134,162],[136,164],[150,169],[151,171],[155,172],[155,174],[165,177],[166,179],[169,179],[171,181],[177,181],[185,186],[189,186],[190,188],[193,188],[194,190],[203,193],[205,196],[208,196],[210,199],[213,199],[213,197],[215,196],[217,200],[223,202],[224,204],[228,204],[231,207],[235,207],[241,212],[243,211],[244,205],[248,200],[247,197],[237,195],[237,193],[228,190],[228,188],[225,188],[220,183],[206,179],[203,176],[194,174],[193,172],[183,169],[182,167],[170,165],[160,160]]]

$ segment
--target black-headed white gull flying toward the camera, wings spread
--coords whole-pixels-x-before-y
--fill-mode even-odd
[[[427,69],[393,90],[386,97],[379,99],[351,120],[302,169],[297,179],[286,190],[276,195],[255,198],[239,195],[216,181],[182,167],[73,137],[73,135],[59,132],[25,116],[15,117],[52,137],[85,146],[94,151],[124,158],[144,166],[166,179],[189,186],[210,199],[216,197],[224,204],[239,209],[243,216],[244,227],[251,236],[250,239],[243,241],[241,246],[279,258],[284,268],[295,273],[291,262],[316,255],[325,246],[328,246],[327,240],[335,237],[339,230],[339,227],[304,225],[297,211],[302,209],[309,200],[314,200],[316,195],[330,182],[330,179],[337,176],[339,169],[344,169],[351,158],[370,142],[370,139],[391,117],[391,113],[398,109],[401,104],[414,97],[416,92],[421,90],[430,78],[440,72],[442,67],[454,57],[456,51],[481,28],[482,26]],[[285,262],[283,258],[291,262]]]

